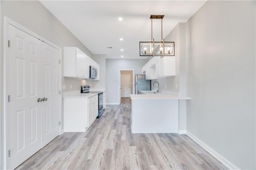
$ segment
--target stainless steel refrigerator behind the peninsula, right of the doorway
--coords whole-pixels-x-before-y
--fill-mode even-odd
[[[151,90],[151,80],[146,80],[144,74],[135,75],[135,94],[140,94],[140,90]]]

